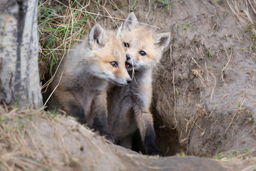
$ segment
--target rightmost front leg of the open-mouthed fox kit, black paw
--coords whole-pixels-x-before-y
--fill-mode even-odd
[[[153,117],[149,110],[141,109],[135,106],[135,120],[140,130],[140,135],[143,140],[145,152],[148,155],[160,155],[165,156],[165,152],[160,151],[157,143],[155,131],[153,128]]]

